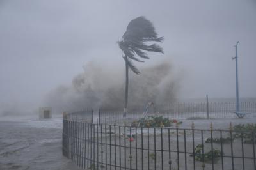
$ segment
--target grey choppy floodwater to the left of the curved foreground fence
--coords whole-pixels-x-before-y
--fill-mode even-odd
[[[0,169],[77,169],[62,156],[61,118],[1,118]]]

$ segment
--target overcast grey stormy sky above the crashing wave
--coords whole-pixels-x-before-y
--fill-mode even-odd
[[[38,107],[90,61],[123,72],[116,42],[141,15],[164,36],[164,55],[138,66],[172,61],[180,98],[236,96],[237,40],[240,95],[256,97],[255,0],[0,0],[0,105]]]

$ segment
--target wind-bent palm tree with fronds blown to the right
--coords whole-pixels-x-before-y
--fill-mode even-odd
[[[147,45],[145,42],[162,42],[163,37],[157,38],[156,30],[149,20],[145,17],[138,17],[128,24],[127,29],[122,36],[122,40],[118,42],[120,49],[122,50],[122,57],[125,61],[125,103],[124,103],[124,117],[127,113],[127,104],[128,104],[128,70],[129,68],[132,72],[137,75],[140,74],[140,71],[136,66],[133,65],[132,60],[138,62],[144,62],[136,58],[139,56],[143,59],[149,59],[147,54],[143,51],[151,52],[161,52],[163,49],[153,43],[152,45]]]

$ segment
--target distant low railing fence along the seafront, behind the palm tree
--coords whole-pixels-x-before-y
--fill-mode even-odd
[[[241,112],[245,117],[256,117],[255,102],[241,102]],[[172,103],[169,105],[155,105],[148,109],[148,115],[160,114],[168,118],[236,118],[236,103]],[[144,108],[130,108],[127,119],[137,119],[143,116]],[[95,113],[95,122],[118,123],[123,121],[123,111],[120,109],[100,109]],[[123,123],[123,122],[122,122]]]

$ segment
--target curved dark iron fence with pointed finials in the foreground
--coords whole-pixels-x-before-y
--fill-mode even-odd
[[[63,116],[63,155],[83,169],[256,169],[254,130],[102,125],[90,116]]]

